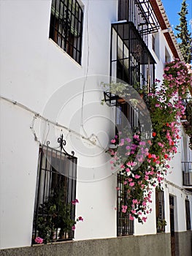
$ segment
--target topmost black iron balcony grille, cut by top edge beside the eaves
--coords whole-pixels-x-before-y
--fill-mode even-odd
[[[160,27],[149,0],[119,0],[118,20],[134,23],[146,43],[147,34],[157,32]]]

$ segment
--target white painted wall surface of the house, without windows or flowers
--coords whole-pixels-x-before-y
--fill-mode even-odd
[[[66,151],[74,150],[78,161],[80,203],[76,209],[84,222],[77,224],[74,240],[117,236],[116,176],[103,149],[114,135],[115,113],[100,104],[100,84],[110,75],[111,23],[118,20],[118,1],[84,0],[81,4],[80,65],[48,38],[50,0],[0,1],[0,249],[31,245],[39,142],[50,140],[55,147],[61,133]],[[157,63],[155,77],[162,79],[165,49],[173,58],[161,31],[158,37],[158,56],[152,50],[151,36],[149,48]],[[177,198],[175,230],[186,230],[182,151],[180,146],[164,186],[167,233],[169,194]],[[192,206],[191,195],[188,198]],[[136,236],[156,233],[154,193],[152,200],[147,223],[135,221]]]

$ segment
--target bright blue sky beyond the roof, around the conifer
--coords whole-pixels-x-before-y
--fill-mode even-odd
[[[181,10],[181,3],[183,0],[161,0],[164,9],[166,11],[166,15],[168,16],[169,22],[172,25],[172,29],[174,30],[174,27],[179,25],[180,23],[180,16],[177,14],[177,12],[180,12]],[[186,3],[188,4],[188,30],[191,32],[191,25],[190,20],[192,22],[192,0],[186,0]],[[177,31],[174,30],[174,34],[176,34]]]

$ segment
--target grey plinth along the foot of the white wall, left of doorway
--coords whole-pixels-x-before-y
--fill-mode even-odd
[[[170,256],[170,233],[146,236],[66,241],[40,246],[1,249],[1,256]]]

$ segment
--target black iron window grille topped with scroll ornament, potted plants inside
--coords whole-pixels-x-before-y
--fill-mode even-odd
[[[64,150],[63,135],[58,143],[60,150],[49,142],[39,148],[32,244],[37,237],[44,243],[74,238],[77,158]]]

